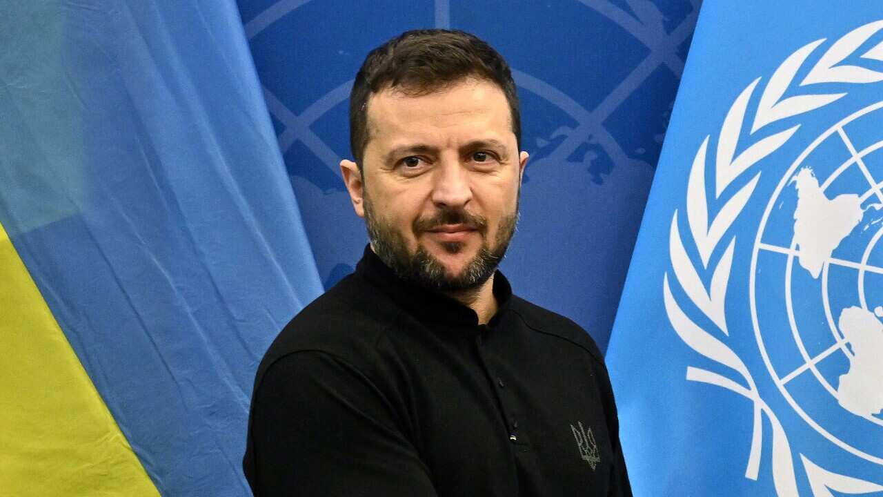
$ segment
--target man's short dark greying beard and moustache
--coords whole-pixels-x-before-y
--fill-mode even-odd
[[[408,249],[404,235],[383,219],[378,218],[367,195],[365,202],[365,223],[371,248],[388,265],[399,278],[407,279],[442,293],[463,293],[477,290],[494,274],[497,265],[506,255],[509,241],[515,234],[518,220],[518,205],[515,211],[504,216],[500,221],[493,243],[487,241],[487,219],[472,214],[464,209],[445,209],[437,212],[432,218],[418,218],[411,224],[412,233],[419,235],[442,225],[465,225],[479,232],[482,239],[478,253],[472,257],[462,271],[449,275],[444,264],[430,254],[418,242],[414,253]],[[442,248],[449,254],[457,254],[464,250],[461,242],[442,243]]]

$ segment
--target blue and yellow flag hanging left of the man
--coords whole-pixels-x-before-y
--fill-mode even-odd
[[[0,5],[0,495],[249,494],[321,292],[232,1]]]

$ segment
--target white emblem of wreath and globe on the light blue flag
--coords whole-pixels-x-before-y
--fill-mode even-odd
[[[672,217],[673,271],[663,284],[668,318],[687,345],[724,366],[719,371],[688,367],[687,378],[753,402],[747,478],[758,478],[766,416],[772,427],[770,469],[780,496],[797,495],[798,460],[817,497],[883,490],[881,482],[822,468],[817,463],[822,455],[804,453],[809,449],[796,458],[789,437],[795,426],[781,421],[784,408],[773,409],[761,396],[755,381],[761,371],[752,371],[729,345],[753,334],[766,373],[797,417],[826,441],[822,446],[841,451],[841,458],[883,466],[883,102],[877,101],[879,90],[857,91],[883,81],[883,73],[872,69],[883,61],[883,42],[859,50],[881,29],[883,21],[877,21],[834,42],[811,42],[776,68],[763,91],[758,89],[762,78],[751,82],[723,119],[714,160],[709,137],[699,147],[687,185],[686,216],[675,211]],[[796,75],[802,69],[809,71],[801,80]],[[796,88],[800,95],[784,97]],[[841,98],[850,91],[871,100],[849,108],[842,102],[856,99]],[[759,95],[753,108],[752,95]],[[831,114],[822,114],[823,108],[838,111],[840,120],[801,147],[792,136],[802,120]],[[779,121],[793,126],[764,133],[765,126]],[[746,123],[751,134],[742,133]],[[737,144],[744,148],[738,156]],[[746,205],[760,174],[776,173],[774,164],[755,164],[777,150],[777,157],[790,157],[790,167],[757,224],[743,223],[756,231],[734,230],[728,236],[737,218],[751,216]],[[713,201],[723,205],[713,218],[706,199],[708,172],[713,172]],[[751,253],[735,249],[736,238],[745,236],[754,240]],[[698,260],[684,245],[691,238]],[[733,271],[734,259],[751,260],[748,274]],[[709,285],[699,271],[711,272]],[[747,279],[747,286],[732,285],[736,279]],[[675,281],[699,313],[688,315],[684,299],[675,299]],[[728,295],[728,287],[747,288],[747,294]],[[732,299],[748,300],[751,323],[725,314],[725,302]]]

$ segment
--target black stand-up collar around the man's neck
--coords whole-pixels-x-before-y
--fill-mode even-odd
[[[479,317],[474,310],[463,303],[450,298],[448,295],[429,290],[424,287],[399,278],[388,265],[384,264],[380,257],[374,254],[371,245],[367,245],[362,260],[356,265],[356,275],[370,281],[374,286],[389,294],[393,300],[411,315],[417,317],[427,325],[434,323],[465,327],[464,331],[476,333],[478,331]],[[512,297],[512,287],[509,280],[502,275],[501,271],[494,273],[494,298],[497,302],[497,312],[488,323],[494,327],[509,307]]]

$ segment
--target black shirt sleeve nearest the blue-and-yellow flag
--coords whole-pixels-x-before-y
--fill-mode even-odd
[[[255,386],[251,416],[245,472],[255,497],[436,495],[389,402],[336,356],[277,360]]]

